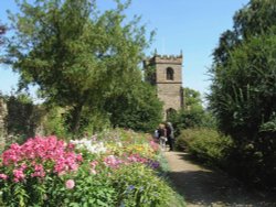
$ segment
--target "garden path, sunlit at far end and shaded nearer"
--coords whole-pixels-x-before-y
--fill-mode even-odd
[[[169,177],[188,207],[276,207],[265,196],[248,192],[222,172],[193,163],[183,152],[164,152]]]

